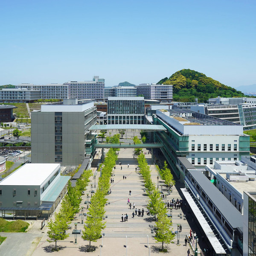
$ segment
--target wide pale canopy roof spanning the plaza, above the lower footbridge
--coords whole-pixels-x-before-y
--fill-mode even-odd
[[[166,131],[163,125],[92,125],[88,130]]]

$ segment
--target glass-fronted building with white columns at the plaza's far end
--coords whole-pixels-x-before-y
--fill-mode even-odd
[[[108,125],[144,124],[143,97],[108,97]]]

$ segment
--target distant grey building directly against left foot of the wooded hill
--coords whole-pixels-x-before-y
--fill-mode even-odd
[[[145,99],[157,99],[160,101],[172,101],[172,85],[164,84],[139,84],[137,96],[143,95]]]

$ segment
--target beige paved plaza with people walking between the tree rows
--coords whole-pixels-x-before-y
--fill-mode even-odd
[[[148,152],[148,151],[146,151]],[[151,154],[145,155],[148,159],[148,163],[151,164]],[[93,173],[96,172],[97,166],[100,163],[101,154],[93,160]],[[157,156],[155,156],[157,157]],[[119,166],[119,162],[122,162],[122,170],[121,166]],[[129,167],[128,167],[129,163]],[[152,216],[144,214],[143,217],[138,217],[135,215],[132,218],[133,206],[128,207],[127,201],[128,198],[133,205],[135,204],[135,208],[143,209],[146,212],[146,204],[148,202],[148,197],[144,192],[143,178],[140,175],[140,172],[135,172],[135,167],[137,166],[137,159],[133,158],[133,149],[121,149],[119,151],[119,159],[117,160],[116,169],[114,171],[114,183],[111,183],[112,193],[107,196],[108,202],[110,204],[105,206],[107,218],[106,228],[103,230],[105,236],[103,236],[103,240],[99,239],[97,242],[92,242],[93,246],[96,246],[96,250],[90,253],[84,252],[84,246],[88,245],[88,241],[84,241],[81,238],[81,234],[77,235],[77,244],[74,243],[75,237],[72,234],[72,231],[75,227],[75,223],[78,223],[78,230],[83,230],[83,224],[81,224],[81,211],[76,215],[76,218],[70,224],[70,230],[67,233],[70,236],[64,241],[58,241],[57,245],[60,245],[62,250],[59,252],[51,252],[50,247],[54,245],[54,243],[49,243],[47,241],[47,227],[44,227],[43,230],[40,230],[41,221],[35,221],[28,231],[27,234],[33,233],[35,236],[35,241],[38,239],[38,236],[43,236],[41,241],[36,241],[38,246],[36,247],[33,256],[41,256],[41,255],[61,255],[61,256],[72,256],[72,255],[91,255],[91,256],[148,256],[149,255],[149,247],[150,247],[150,255],[159,255],[158,248],[161,247],[161,243],[156,243],[156,240],[153,238],[154,233],[151,233],[151,227],[154,226],[154,220]],[[151,177],[152,180],[157,184],[157,171],[154,165],[151,165]],[[99,178],[100,173],[96,172],[96,181]],[[123,179],[123,175],[126,175],[127,178]],[[94,180],[91,182],[94,188]],[[160,185],[164,184],[162,180],[160,180]],[[167,200],[172,200],[172,198],[179,198],[180,194],[178,193],[180,184],[177,184],[176,187],[173,187],[171,195],[167,196]],[[97,182],[96,182],[97,187]],[[160,186],[159,186],[160,188]],[[84,212],[87,212],[87,205],[84,204],[86,201],[87,193],[90,195],[90,183],[87,187],[87,191],[85,191],[82,196],[81,205],[84,206]],[[131,190],[131,195],[129,195],[129,190]],[[165,193],[166,194],[166,193]],[[60,205],[57,207],[57,211],[59,210]],[[185,209],[186,210],[186,209]],[[128,214],[128,221],[122,222],[121,215]],[[170,212],[168,212],[170,213]],[[186,256],[187,250],[189,246],[185,246],[185,235],[189,234],[190,228],[194,230],[195,227],[189,226],[188,221],[184,220],[184,218],[180,218],[178,215],[183,213],[183,209],[172,210],[172,221],[173,221],[173,232],[177,231],[177,224],[182,225],[182,232],[180,232],[180,245],[177,245],[177,237],[173,240],[171,244],[164,244],[168,248],[168,253],[164,253],[165,255],[177,255],[177,256]],[[53,218],[53,216],[52,216]],[[84,221],[85,221],[84,217]],[[192,222],[193,225],[193,222]],[[20,234],[22,235],[22,234]],[[100,245],[103,244],[102,248]],[[4,244],[3,244],[4,245]],[[200,245],[200,244],[199,244]],[[198,252],[200,252],[200,248],[198,247]],[[192,251],[191,251],[192,253]],[[193,253],[192,253],[193,254]],[[26,254],[19,255],[31,255],[31,251],[28,251]]]

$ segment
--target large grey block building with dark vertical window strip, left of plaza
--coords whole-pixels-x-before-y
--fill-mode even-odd
[[[78,166],[94,153],[96,134],[88,128],[95,124],[93,102],[65,99],[42,105],[31,113],[32,163]]]

